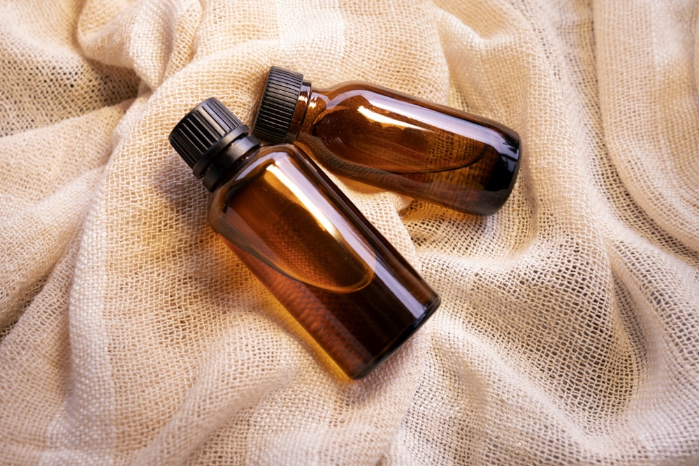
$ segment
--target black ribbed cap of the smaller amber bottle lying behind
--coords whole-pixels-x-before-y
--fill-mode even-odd
[[[287,142],[287,133],[301,93],[303,75],[272,66],[262,92],[252,133],[268,143]]]

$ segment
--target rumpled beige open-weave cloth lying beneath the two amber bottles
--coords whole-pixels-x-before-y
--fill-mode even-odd
[[[693,0],[0,2],[0,463],[699,462]],[[166,136],[271,64],[496,119],[489,218],[340,187],[440,292],[324,365]]]

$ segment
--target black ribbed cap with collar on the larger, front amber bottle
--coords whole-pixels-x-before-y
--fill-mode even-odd
[[[249,132],[250,128],[231,110],[211,97],[180,120],[169,140],[192,168],[194,176],[203,178],[204,185],[212,190],[224,169],[259,145],[259,140]]]

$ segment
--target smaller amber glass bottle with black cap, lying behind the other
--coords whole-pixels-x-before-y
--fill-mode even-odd
[[[338,175],[471,214],[496,212],[519,167],[519,136],[496,122],[366,82],[312,89],[276,66],[253,133]]]

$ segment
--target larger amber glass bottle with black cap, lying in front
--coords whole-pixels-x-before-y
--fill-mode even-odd
[[[440,298],[294,145],[260,147],[207,99],[170,143],[213,192],[209,221],[347,376],[363,377]]]

